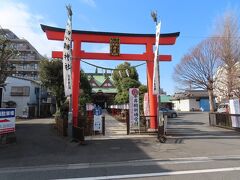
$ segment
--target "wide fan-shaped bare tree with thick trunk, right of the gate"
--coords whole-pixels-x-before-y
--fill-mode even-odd
[[[190,84],[191,88],[208,90],[210,111],[214,111],[214,74],[220,65],[218,49],[218,38],[202,41],[181,59],[174,74],[176,82],[182,85]]]

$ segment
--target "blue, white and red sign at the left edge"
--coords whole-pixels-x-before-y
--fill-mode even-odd
[[[0,135],[15,132],[15,108],[0,108]]]

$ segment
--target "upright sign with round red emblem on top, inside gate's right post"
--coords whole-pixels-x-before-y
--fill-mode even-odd
[[[138,88],[129,89],[129,123],[130,129],[140,128]]]

